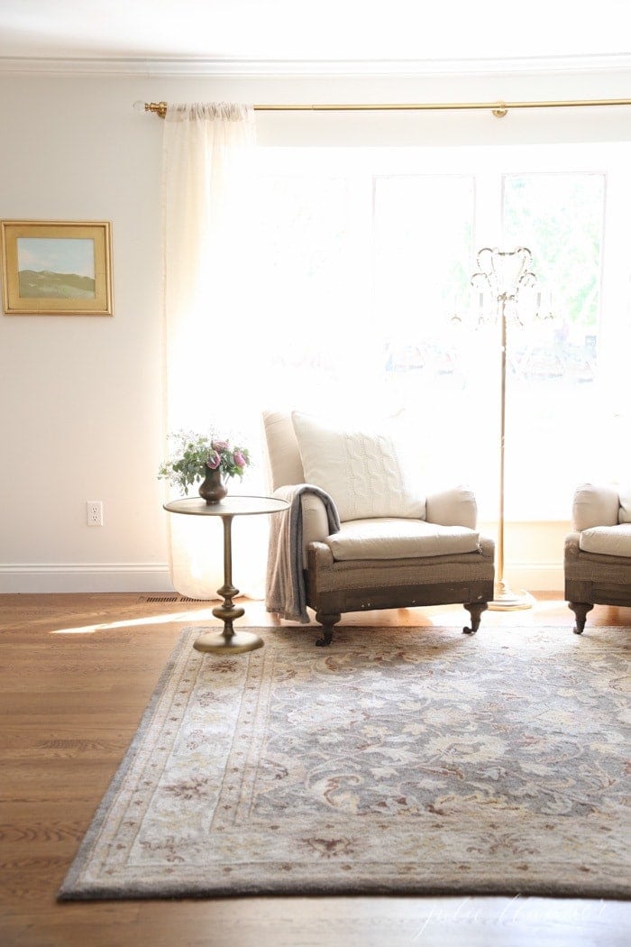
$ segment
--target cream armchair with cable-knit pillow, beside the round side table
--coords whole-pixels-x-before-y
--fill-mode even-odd
[[[471,616],[464,633],[478,630],[495,549],[476,529],[470,491],[415,494],[387,433],[336,430],[299,412],[266,411],[263,425],[272,490],[290,502],[271,524],[269,612],[305,623],[314,609],[318,645],[330,644],[342,613],[369,609],[461,602]],[[288,559],[302,586],[289,604]]]

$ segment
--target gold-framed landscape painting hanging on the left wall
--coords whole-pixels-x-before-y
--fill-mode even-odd
[[[5,315],[112,315],[109,221],[1,221]]]

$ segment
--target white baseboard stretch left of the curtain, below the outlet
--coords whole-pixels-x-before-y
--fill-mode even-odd
[[[168,565],[155,563],[0,564],[0,593],[173,592]]]

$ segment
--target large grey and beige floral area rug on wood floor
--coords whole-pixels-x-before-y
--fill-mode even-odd
[[[628,898],[628,632],[184,630],[60,900]]]

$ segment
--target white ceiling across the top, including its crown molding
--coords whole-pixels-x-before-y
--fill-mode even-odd
[[[0,0],[0,59],[631,65],[629,0]],[[360,68],[359,68],[360,71]]]

